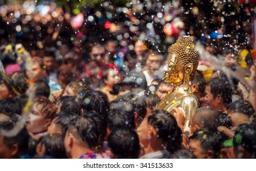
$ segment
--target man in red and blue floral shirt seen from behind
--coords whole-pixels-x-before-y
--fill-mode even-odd
[[[92,117],[78,116],[65,135],[65,151],[68,158],[110,158],[109,153],[96,153],[100,133]]]

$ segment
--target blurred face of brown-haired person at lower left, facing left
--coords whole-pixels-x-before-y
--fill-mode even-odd
[[[42,109],[41,104],[33,104],[31,112],[27,118],[26,128],[29,133],[41,133],[46,131],[48,125],[46,123],[46,118],[43,118],[43,114],[40,112]]]

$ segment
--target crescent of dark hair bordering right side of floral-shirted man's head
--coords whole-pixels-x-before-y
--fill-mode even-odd
[[[99,148],[103,147],[104,138],[106,136],[107,126],[106,126],[106,118],[102,117],[98,112],[96,111],[90,111],[87,112],[86,117],[91,117],[95,120],[97,123],[98,132],[100,133],[100,139],[99,139]]]

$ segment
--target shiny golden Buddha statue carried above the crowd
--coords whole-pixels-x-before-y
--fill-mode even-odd
[[[174,84],[174,90],[164,96],[156,109],[164,109],[172,113],[174,107],[182,107],[185,111],[185,125],[199,106],[199,100],[192,94],[190,88],[190,82],[194,79],[198,64],[199,53],[195,50],[191,37],[179,37],[177,42],[168,49],[163,79]]]

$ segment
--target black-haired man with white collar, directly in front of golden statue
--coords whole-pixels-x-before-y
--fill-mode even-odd
[[[141,158],[169,158],[170,153],[181,149],[182,132],[169,112],[156,110],[142,123],[137,128],[144,155]]]

